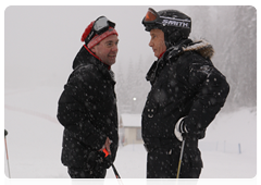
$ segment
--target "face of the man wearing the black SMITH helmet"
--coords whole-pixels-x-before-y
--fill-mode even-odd
[[[152,48],[154,55],[159,58],[166,50],[164,33],[161,29],[151,29],[150,37],[149,46]]]

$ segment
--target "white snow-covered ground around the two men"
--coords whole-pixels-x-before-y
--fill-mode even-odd
[[[70,185],[60,161],[63,127],[55,119],[62,91],[54,87],[5,89],[4,128],[12,185]],[[259,109],[221,112],[200,141],[204,168],[198,185],[258,185]],[[239,150],[240,147],[240,150]],[[240,153],[239,153],[240,152]],[[142,145],[120,147],[114,165],[125,185],[146,184]],[[9,185],[4,151],[4,185]],[[112,169],[105,185],[116,185]]]

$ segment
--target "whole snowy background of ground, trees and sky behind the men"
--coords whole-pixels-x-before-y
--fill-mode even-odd
[[[2,130],[7,128],[9,132],[7,141],[13,185],[71,184],[66,168],[60,161],[63,127],[55,119],[57,102],[72,72],[72,61],[83,45],[80,36],[84,29],[102,14],[116,23],[119,32],[119,54],[116,64],[112,67],[117,81],[119,108],[124,112],[126,106],[130,113],[140,113],[149,90],[149,84],[144,76],[154,60],[152,50],[148,47],[149,34],[141,25],[148,7],[150,5],[4,7]],[[214,44],[216,55],[213,62],[227,76],[233,87],[228,97],[229,104],[216,116],[208,128],[207,137],[200,141],[204,168],[198,184],[257,185],[257,9],[170,5],[152,8],[157,11],[177,9],[191,14],[192,18],[196,17],[198,22],[194,22],[192,36],[206,36]],[[207,16],[206,12],[210,13],[210,16]],[[225,35],[221,35],[224,33]],[[223,48],[224,46],[228,47]],[[129,76],[132,79],[136,77],[137,82],[130,81]],[[134,97],[137,98],[135,103],[132,101]],[[123,104],[129,100],[130,103]],[[4,149],[4,144],[2,148]],[[4,182],[1,184],[9,185],[5,150],[2,151],[2,159]],[[120,147],[115,166],[125,185],[146,184],[146,151],[141,145]],[[111,169],[108,171],[105,184],[117,184]]]

